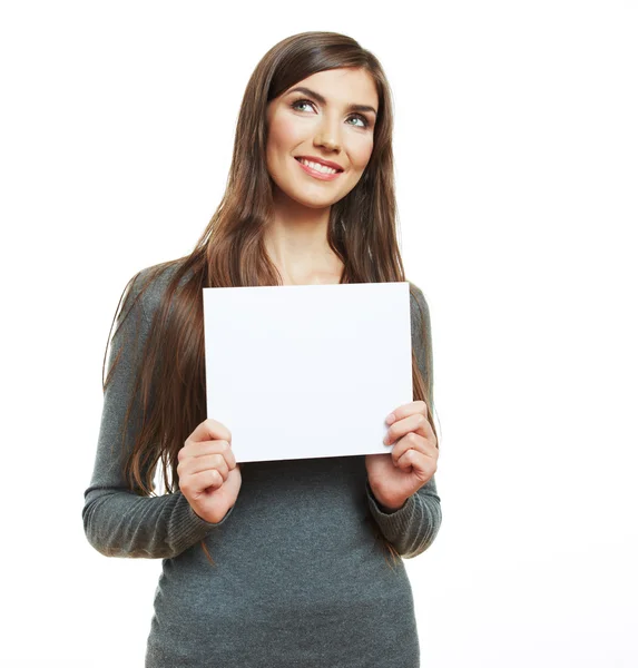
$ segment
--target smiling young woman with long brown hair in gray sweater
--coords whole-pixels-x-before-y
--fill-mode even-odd
[[[82,518],[102,554],[163,559],[147,668],[420,665],[397,557],[441,524],[421,289],[410,284],[414,401],[389,406],[387,454],[237,464],[233,425],[207,419],[205,400],[204,287],[396,281],[383,70],[343,35],[284,39],[248,81],[208,227],[188,256],[129,281],[111,341]],[[253,401],[247,385],[246,412]]]

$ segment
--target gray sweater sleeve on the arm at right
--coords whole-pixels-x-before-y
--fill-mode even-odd
[[[410,304],[412,345],[431,400],[433,379],[428,373],[428,366],[432,369],[430,310],[420,288],[416,288],[416,298],[411,297]],[[425,338],[422,335],[423,328]],[[434,475],[406,499],[400,509],[390,513],[381,510],[367,480],[365,491],[370,511],[381,532],[404,559],[418,557],[434,542],[442,520],[441,499],[436,492]]]

